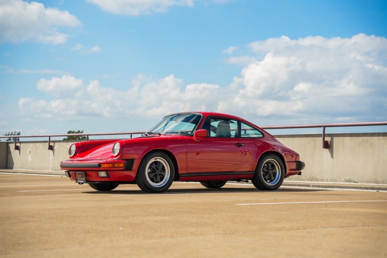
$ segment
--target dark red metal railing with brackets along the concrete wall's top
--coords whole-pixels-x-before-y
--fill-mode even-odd
[[[260,126],[262,129],[291,129],[291,128],[322,128],[322,148],[330,149],[330,141],[325,140],[325,128],[326,127],[346,127],[346,126],[375,126],[375,125],[387,125],[387,121],[379,122],[358,122],[358,123],[330,123],[330,124],[308,124],[308,125],[269,125]],[[16,145],[17,138],[32,138],[32,137],[48,137],[48,149],[53,150],[53,145],[50,144],[51,137],[62,136],[86,136],[86,141],[89,140],[89,136],[95,135],[130,135],[130,139],[134,134],[145,133],[146,131],[136,132],[116,132],[116,133],[66,133],[66,134],[46,134],[46,135],[8,135],[0,136],[0,138],[14,138],[14,149],[19,150],[19,145]]]

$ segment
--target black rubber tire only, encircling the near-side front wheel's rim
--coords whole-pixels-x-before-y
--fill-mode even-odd
[[[151,159],[154,159],[156,157],[160,157],[164,159],[168,163],[168,166],[170,167],[170,177],[168,178],[168,181],[163,186],[160,186],[160,187],[151,185],[147,180],[146,166],[148,162],[151,161]],[[142,158],[139,168],[137,170],[135,181],[143,191],[146,191],[148,193],[161,193],[163,191],[168,190],[168,188],[170,188],[174,178],[175,178],[175,166],[173,165],[171,158],[164,152],[151,152],[146,154]]]

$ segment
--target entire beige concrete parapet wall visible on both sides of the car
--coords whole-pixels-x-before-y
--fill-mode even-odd
[[[387,133],[327,134],[331,149],[322,149],[321,134],[276,138],[306,163],[301,176],[288,180],[387,184]],[[47,142],[20,142],[20,150],[14,150],[13,142],[1,143],[0,168],[60,171],[60,161],[68,159],[74,142],[53,141],[53,151]]]

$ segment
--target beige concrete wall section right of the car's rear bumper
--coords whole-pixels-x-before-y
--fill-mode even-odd
[[[387,133],[278,135],[306,163],[301,176],[287,180],[387,184]]]

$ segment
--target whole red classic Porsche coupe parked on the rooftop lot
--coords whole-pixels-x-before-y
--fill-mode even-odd
[[[136,183],[161,193],[173,181],[220,188],[247,180],[259,190],[276,190],[305,167],[297,152],[258,126],[210,112],[170,114],[138,138],[77,142],[68,155],[60,162],[66,175],[99,191]]]

